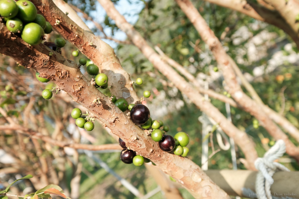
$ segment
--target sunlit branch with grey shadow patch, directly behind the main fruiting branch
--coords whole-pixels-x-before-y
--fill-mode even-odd
[[[129,104],[139,100],[129,74],[121,67],[112,47],[94,34],[79,27],[53,1],[33,0],[32,2],[50,22],[54,30],[74,44],[101,69],[101,72],[108,76],[109,88],[113,95],[117,98],[125,98]],[[57,20],[60,21],[59,25],[56,23]],[[46,74],[46,72],[42,74]]]

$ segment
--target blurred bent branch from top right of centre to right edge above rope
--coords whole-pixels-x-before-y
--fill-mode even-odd
[[[227,90],[235,101],[242,106],[242,108],[257,118],[269,134],[276,140],[282,139],[286,143],[286,152],[299,161],[299,148],[296,147],[288,138],[288,136],[268,117],[263,111],[262,106],[249,98],[241,89],[237,82],[235,72],[233,70],[231,60],[226,54],[220,41],[210,29],[205,19],[199,14],[197,9],[189,0],[176,0],[186,16],[193,23],[199,35],[208,44],[214,57],[216,58],[219,67],[227,85]]]

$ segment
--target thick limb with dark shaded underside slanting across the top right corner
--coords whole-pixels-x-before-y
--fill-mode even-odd
[[[247,0],[205,0],[205,1],[208,1],[213,4],[217,4],[222,7],[227,7],[232,10],[236,10],[257,20],[265,21],[269,24],[277,26],[282,30],[284,30],[297,44],[297,47],[299,47],[298,27],[297,30],[294,29],[291,24],[286,23],[286,20],[282,16],[280,16],[278,9],[273,10],[272,6],[269,7],[269,4],[271,4],[270,2],[272,2],[272,0],[264,0],[269,3],[267,5],[263,4],[266,5],[266,7],[262,6],[261,4],[258,4],[257,2],[247,1]],[[280,1],[281,3],[286,2],[283,0],[278,0],[278,1]],[[292,0],[292,1],[295,2],[296,0]],[[296,10],[298,9],[292,8],[291,10],[292,12],[296,12]]]

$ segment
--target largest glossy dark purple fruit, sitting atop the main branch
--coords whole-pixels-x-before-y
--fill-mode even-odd
[[[136,104],[132,107],[130,118],[135,124],[145,124],[150,117],[149,109],[143,104]]]

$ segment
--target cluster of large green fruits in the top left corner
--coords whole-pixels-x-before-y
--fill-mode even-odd
[[[0,0],[0,15],[7,29],[21,33],[22,39],[30,45],[40,44],[44,34],[52,32],[51,24],[37,14],[35,5],[28,0]]]

